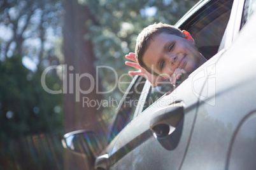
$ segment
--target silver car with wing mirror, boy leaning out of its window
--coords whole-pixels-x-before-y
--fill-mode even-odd
[[[95,169],[256,169],[256,1],[199,1],[175,25],[207,62],[175,89],[135,76],[102,144],[62,144]]]

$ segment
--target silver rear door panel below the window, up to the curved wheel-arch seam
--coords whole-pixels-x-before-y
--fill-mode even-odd
[[[255,23],[256,15],[246,23],[238,39],[220,57],[215,73],[209,75],[208,79],[216,79],[216,91],[208,91],[207,98],[199,103],[194,132],[182,169],[227,169],[228,162],[234,164],[234,160],[229,160],[229,153],[236,129],[246,116],[256,110],[256,36],[250,34],[248,29],[256,27]],[[241,72],[245,74],[236,76]],[[213,99],[215,105],[209,105],[207,101]],[[245,145],[239,147],[246,148]],[[241,159],[243,155],[236,157],[244,160]]]

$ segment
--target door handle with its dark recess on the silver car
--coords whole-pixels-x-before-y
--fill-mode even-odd
[[[184,117],[183,102],[157,110],[150,121],[150,130],[155,137],[164,138],[173,133]]]

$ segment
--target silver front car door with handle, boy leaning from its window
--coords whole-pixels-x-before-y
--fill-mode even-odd
[[[206,46],[201,49],[204,53],[212,52],[211,46],[217,46],[214,55],[229,20],[231,6],[232,1],[204,1],[176,26],[192,30],[196,43]],[[208,35],[208,44],[199,42],[200,38],[207,36],[207,30],[215,31],[216,24],[224,23],[224,26],[219,25],[222,30],[218,30],[217,39],[210,39]],[[215,60],[221,54],[219,51]],[[199,67],[178,88],[160,97],[150,107],[138,108],[143,112],[122,129],[108,154],[110,169],[180,169],[194,131],[199,95],[205,80],[201,79],[202,73],[212,69],[211,63],[215,60]],[[203,77],[206,78],[207,74]]]

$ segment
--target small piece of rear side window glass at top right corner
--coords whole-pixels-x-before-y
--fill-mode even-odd
[[[249,20],[250,16],[252,16],[253,12],[256,8],[255,0],[245,0],[245,5],[243,6],[243,17],[241,22],[241,28],[245,23]]]

